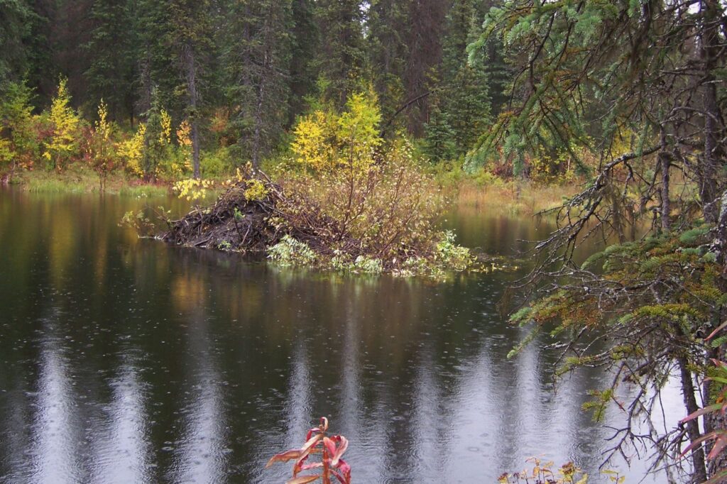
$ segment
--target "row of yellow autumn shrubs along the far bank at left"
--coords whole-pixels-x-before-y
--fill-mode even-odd
[[[56,172],[93,169],[101,190],[112,172],[148,180],[179,180],[191,173],[189,122],[175,122],[158,104],[145,121],[125,130],[111,121],[103,99],[94,121],[81,117],[65,78],[39,114],[33,114],[33,92],[23,82],[0,88],[0,178],[9,178],[17,167],[36,169],[39,160]]]

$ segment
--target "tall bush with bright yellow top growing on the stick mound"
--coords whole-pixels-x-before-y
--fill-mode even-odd
[[[363,105],[365,100],[372,104]],[[308,172],[288,175],[282,184],[305,195],[304,203],[311,205],[307,208],[334,220],[340,233],[355,238],[361,253],[375,259],[398,255],[401,260],[401,251],[422,251],[433,243],[441,193],[414,159],[407,140],[384,145],[378,134],[374,136],[380,119],[375,98],[354,97],[348,106],[339,118],[318,112],[326,125],[315,129],[310,119],[301,121],[305,129],[298,126],[293,146]],[[325,135],[309,136],[326,130]],[[359,134],[364,137],[361,143],[346,137]],[[313,146],[313,140],[321,145]],[[337,242],[345,244],[342,239]]]

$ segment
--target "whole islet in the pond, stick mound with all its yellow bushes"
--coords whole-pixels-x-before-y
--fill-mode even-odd
[[[230,241],[284,265],[366,273],[465,269],[469,251],[436,230],[443,197],[433,177],[408,140],[379,137],[379,120],[369,94],[354,96],[344,113],[302,118],[293,143],[297,172],[275,183],[247,166],[213,206],[174,222],[164,240],[211,248]],[[406,265],[409,259],[415,263]]]

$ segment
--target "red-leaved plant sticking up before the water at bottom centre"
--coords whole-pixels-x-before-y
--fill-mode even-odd
[[[305,436],[305,444],[300,449],[292,449],[276,454],[268,461],[265,469],[272,466],[276,462],[295,461],[293,464],[293,478],[286,484],[306,484],[313,483],[320,479],[323,484],[332,484],[332,477],[336,478],[340,484],[350,484],[351,467],[341,456],[348,448],[348,440],[342,435],[326,435],[328,430],[328,419],[321,417],[321,424],[318,427],[308,430]],[[321,455],[321,461],[309,462],[308,457],[311,455]],[[319,474],[300,475],[302,471],[311,469],[320,469]]]

